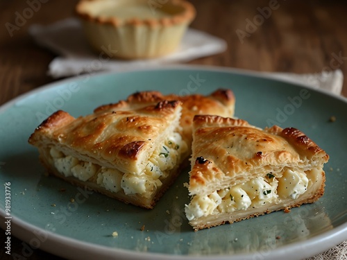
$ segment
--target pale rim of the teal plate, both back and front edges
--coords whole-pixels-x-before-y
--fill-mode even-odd
[[[230,67],[219,67],[219,66],[212,66],[212,65],[189,65],[189,64],[170,64],[170,65],[164,65],[162,67],[150,67],[150,68],[135,68],[135,69],[126,69],[124,71],[99,71],[96,73],[89,73],[88,76],[90,78],[94,77],[103,77],[103,76],[110,76],[110,75],[117,75],[121,73],[131,73],[131,72],[145,72],[145,71],[170,71],[170,70],[200,70],[200,71],[214,71],[214,72],[226,72],[226,73],[233,73],[235,75],[239,76],[245,76],[245,77],[255,77],[255,78],[262,78],[265,80],[272,80],[275,82],[280,83],[289,83],[291,85],[296,85],[299,87],[304,87],[307,89],[310,89],[310,91],[313,92],[319,92],[323,95],[330,96],[332,98],[337,98],[340,101],[347,104],[347,97],[342,95],[337,95],[332,92],[329,92],[325,89],[316,89],[314,87],[311,87],[310,85],[306,85],[305,83],[296,82],[295,80],[289,80],[287,78],[280,79],[280,78],[273,78],[269,74],[269,72],[262,72],[262,71],[251,71],[248,69],[237,69],[237,68],[230,68]],[[31,96],[33,94],[37,94],[40,92],[45,92],[47,89],[53,89],[54,87],[59,87],[63,84],[71,83],[74,81],[81,80],[81,77],[83,77],[85,74],[81,74],[78,76],[73,76],[69,78],[64,78],[60,80],[56,80],[51,83],[47,83],[45,85],[42,85],[40,87],[37,87],[35,89],[31,89],[28,92],[24,92],[23,94],[20,94],[19,96],[16,96],[15,98],[12,98],[10,101],[6,101],[2,105],[0,105],[0,114],[3,112],[6,112],[10,107],[15,105],[18,101],[22,101],[25,98],[28,98],[28,96]],[[5,218],[6,214],[5,211],[3,211],[2,208],[0,208],[0,216],[1,218]],[[19,223],[18,228],[23,228],[24,231],[28,233],[33,233],[33,230],[37,230],[37,232],[47,232],[46,230],[36,227],[35,225],[32,225],[31,223],[26,223],[24,220],[18,218],[17,216],[13,216],[12,218],[15,219],[16,223]],[[1,227],[3,228],[4,223],[1,223]],[[17,225],[17,224],[15,224]],[[16,228],[17,229],[17,228]],[[12,233],[12,232],[11,232]],[[29,243],[30,239],[28,239],[27,235],[22,234],[20,232],[14,232],[15,236],[19,239],[22,239],[22,241],[25,241],[26,243]],[[49,242],[52,243],[62,243],[64,244],[64,241],[69,241],[72,244],[66,244],[65,247],[76,249],[79,248],[79,250],[83,252],[87,252],[86,256],[90,256],[92,252],[98,252],[98,250],[101,250],[100,252],[106,252],[108,253],[104,257],[110,257],[105,259],[115,259],[112,257],[113,254],[117,253],[115,257],[119,259],[254,259],[254,255],[256,252],[253,253],[242,253],[242,254],[210,254],[208,256],[203,255],[189,255],[189,254],[162,254],[162,253],[155,253],[155,252],[136,252],[133,250],[126,250],[121,248],[110,248],[105,245],[98,245],[95,243],[85,242],[85,241],[79,241],[78,239],[72,239],[68,236],[63,236],[60,234],[56,234],[53,232],[47,232],[49,237]],[[278,259],[278,257],[293,257],[295,259],[296,257],[299,257],[299,254],[293,254],[293,252],[303,251],[302,249],[305,248],[305,250],[310,250],[310,253],[307,254],[305,257],[310,257],[314,254],[319,254],[320,252],[323,252],[325,250],[328,250],[334,245],[337,245],[338,243],[341,243],[342,241],[346,240],[347,238],[347,222],[343,223],[337,227],[334,227],[327,232],[324,232],[323,234],[319,234],[317,236],[314,236],[310,239],[307,239],[305,241],[296,241],[287,245],[282,245],[279,248],[276,248],[275,250],[271,250],[270,252],[266,252],[266,259]],[[44,241],[46,243],[46,241]],[[329,242],[329,243],[328,243]],[[41,250],[44,250],[46,252],[50,252],[52,254],[56,254],[60,257],[67,257],[66,254],[63,252],[59,252],[57,250],[51,247],[49,245],[42,245],[40,247]],[[86,250],[87,249],[87,250]],[[92,249],[92,250],[91,250]],[[257,251],[257,253],[262,253],[261,251]],[[98,254],[99,255],[99,254]],[[264,252],[265,255],[265,252]],[[302,256],[302,254],[300,255]],[[135,257],[135,258],[134,258]],[[232,257],[232,258],[230,258]],[[88,258],[90,259],[90,258]]]

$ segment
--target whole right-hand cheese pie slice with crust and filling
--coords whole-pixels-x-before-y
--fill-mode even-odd
[[[195,116],[189,224],[198,230],[314,202],[323,196],[328,159],[295,128]]]

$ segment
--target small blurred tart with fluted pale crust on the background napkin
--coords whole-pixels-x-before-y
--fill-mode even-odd
[[[81,0],[76,14],[100,55],[139,59],[176,51],[196,10],[183,0]]]

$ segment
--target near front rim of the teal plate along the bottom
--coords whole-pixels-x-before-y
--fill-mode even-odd
[[[5,217],[6,213],[3,209],[0,208],[0,216]],[[15,220],[15,221],[13,221]],[[48,239],[46,239],[42,246],[39,247],[40,250],[44,250],[51,254],[55,254],[59,257],[64,257],[69,259],[70,254],[66,254],[64,252],[59,251],[60,248],[57,248],[57,243],[65,245],[65,252],[78,250],[79,257],[78,259],[94,259],[93,256],[97,255],[98,257],[103,257],[103,259],[144,259],[144,260],[252,260],[255,259],[255,254],[264,255],[264,259],[278,259],[279,257],[286,257],[286,259],[297,259],[299,254],[293,254],[293,252],[303,252],[307,253],[305,255],[300,254],[300,257],[310,257],[315,254],[319,254],[320,252],[324,252],[332,246],[337,245],[344,241],[344,236],[347,234],[347,222],[339,225],[338,227],[334,227],[323,234],[319,234],[305,241],[296,241],[287,245],[282,245],[275,250],[268,251],[256,251],[242,254],[210,254],[210,255],[194,255],[194,254],[163,254],[163,253],[155,253],[155,252],[137,252],[133,250],[126,250],[121,248],[110,248],[105,245],[97,245],[95,243],[90,243],[86,241],[79,241],[78,239],[73,239],[71,237],[63,236],[61,234],[56,234],[50,231],[46,231],[40,227],[36,227],[31,223],[26,223],[24,220],[17,218],[17,216],[12,216],[13,221],[12,225],[15,224],[15,228],[11,227],[12,230],[15,230],[16,237],[22,239],[26,243],[30,244],[31,239],[36,238],[37,236],[33,232],[37,232],[37,234],[46,233]],[[1,223],[1,227],[3,228],[4,223]],[[27,234],[19,233],[19,228],[24,229]],[[31,238],[28,238],[28,234]],[[45,245],[44,243],[47,244]],[[69,244],[70,242],[70,244]],[[304,242],[304,243],[303,243]],[[55,245],[55,246],[53,246]],[[319,246],[318,246],[319,245]],[[307,252],[310,251],[310,252]],[[81,255],[81,252],[83,254]],[[76,251],[74,252],[76,253]],[[289,255],[288,255],[289,254]],[[82,257],[81,257],[82,256]],[[112,257],[113,256],[113,257]]]

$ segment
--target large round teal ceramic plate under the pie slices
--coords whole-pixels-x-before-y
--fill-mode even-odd
[[[146,210],[45,176],[27,142],[56,110],[80,116],[137,91],[208,94],[219,87],[235,93],[237,117],[262,128],[298,128],[330,155],[318,202],[194,232],[183,214],[187,170]],[[10,184],[11,234],[26,241],[18,252],[24,257],[40,248],[69,259],[300,259],[347,239],[345,98],[248,72],[176,67],[62,80],[3,105],[0,122],[0,194]],[[5,209],[1,199],[2,218]]]

